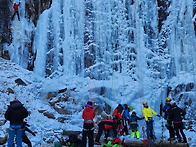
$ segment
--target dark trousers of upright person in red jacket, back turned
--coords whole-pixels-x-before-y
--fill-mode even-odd
[[[86,147],[88,137],[88,146],[94,146],[94,124],[93,123],[84,123],[82,131],[82,146]]]

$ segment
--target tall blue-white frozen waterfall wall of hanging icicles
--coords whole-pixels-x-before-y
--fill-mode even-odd
[[[12,43],[4,50],[49,78],[90,71],[105,80],[119,72],[142,84],[142,77],[195,74],[193,9],[190,0],[55,0],[34,27],[22,1],[21,21],[12,22]]]

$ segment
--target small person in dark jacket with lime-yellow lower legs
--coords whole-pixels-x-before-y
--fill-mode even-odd
[[[138,130],[138,123],[137,121],[138,120],[142,120],[144,119],[144,117],[138,117],[136,115],[136,112],[133,110],[132,114],[131,114],[131,118],[129,119],[129,126],[130,126],[130,130],[131,130],[131,136],[133,138],[136,138],[139,139],[140,138],[140,132]],[[135,135],[136,134],[136,135]]]

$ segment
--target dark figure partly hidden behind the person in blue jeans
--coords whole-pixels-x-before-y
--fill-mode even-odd
[[[22,142],[24,142],[25,144],[28,145],[28,147],[32,147],[31,141],[29,140],[29,138],[27,137],[25,131],[31,133],[33,136],[35,136],[35,133],[32,132],[28,127],[30,125],[27,124],[27,122],[23,122],[22,124],[22,128],[23,128],[23,133],[22,133]]]

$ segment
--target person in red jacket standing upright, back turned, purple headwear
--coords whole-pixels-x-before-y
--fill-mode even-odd
[[[95,111],[93,109],[93,103],[88,101],[85,109],[82,113],[82,118],[84,119],[83,131],[82,131],[82,147],[86,147],[87,136],[88,136],[88,146],[94,146],[94,121]]]

